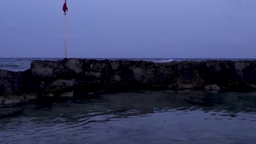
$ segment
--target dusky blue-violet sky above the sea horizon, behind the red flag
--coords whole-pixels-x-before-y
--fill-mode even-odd
[[[1,1],[0,57],[65,57],[64,0]],[[255,0],[67,0],[73,58],[256,58]]]

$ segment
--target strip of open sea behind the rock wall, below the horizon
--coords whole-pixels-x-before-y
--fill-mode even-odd
[[[0,58],[0,69],[11,71],[24,71],[30,69],[30,65],[35,60],[59,61],[63,58]],[[231,60],[231,61],[256,61],[256,58],[87,58],[87,59],[128,59],[132,61],[150,61],[155,63],[172,62],[172,61],[206,61],[206,60]]]

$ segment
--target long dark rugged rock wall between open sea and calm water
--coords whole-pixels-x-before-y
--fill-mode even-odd
[[[23,72],[0,70],[0,102],[75,97],[124,89],[256,90],[255,61],[34,61]]]

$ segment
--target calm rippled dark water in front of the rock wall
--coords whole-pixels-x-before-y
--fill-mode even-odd
[[[0,143],[255,143],[256,93],[141,91],[23,106]]]

